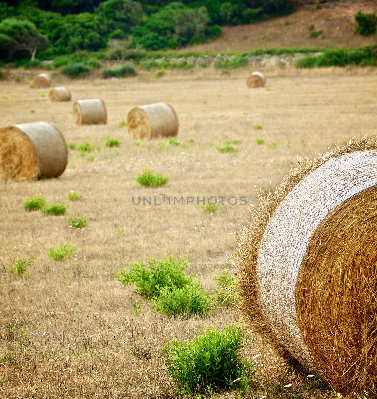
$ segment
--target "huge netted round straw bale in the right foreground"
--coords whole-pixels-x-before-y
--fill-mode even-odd
[[[340,392],[377,389],[377,141],[300,160],[238,236],[242,309]]]

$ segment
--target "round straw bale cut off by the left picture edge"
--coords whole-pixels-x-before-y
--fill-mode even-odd
[[[0,128],[0,178],[10,180],[60,176],[68,150],[52,124],[34,122]]]

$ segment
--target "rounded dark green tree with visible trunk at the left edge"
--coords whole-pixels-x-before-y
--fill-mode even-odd
[[[8,58],[14,53],[29,53],[35,58],[37,50],[44,50],[48,40],[39,34],[35,25],[27,20],[8,18],[0,23],[0,47],[8,50]]]

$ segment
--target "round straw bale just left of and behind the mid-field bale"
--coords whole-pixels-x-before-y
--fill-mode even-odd
[[[73,122],[78,125],[106,123],[105,103],[101,99],[76,101],[73,105]]]

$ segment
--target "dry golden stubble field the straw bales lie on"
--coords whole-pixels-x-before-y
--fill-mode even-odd
[[[311,157],[351,137],[373,135],[376,71],[333,71],[300,77],[271,71],[260,89],[247,89],[245,79],[236,77],[66,81],[73,100],[105,101],[108,124],[102,126],[75,126],[73,103],[51,103],[47,89],[2,81],[0,126],[53,122],[67,142],[88,140],[101,150],[93,161],[70,151],[57,179],[0,183],[0,397],[174,395],[160,387],[167,386],[163,346],[193,339],[206,327],[222,328],[240,314],[217,309],[207,318],[159,316],[135,286],[122,286],[114,274],[133,261],[188,254],[187,273],[196,273],[213,293],[212,276],[230,268],[232,233],[239,223],[247,224],[249,212],[242,205],[220,205],[213,215],[194,204],[135,206],[132,197],[246,196],[256,203],[256,188],[264,192],[279,184],[297,155]],[[132,107],[160,101],[177,111],[181,144],[192,143],[161,150],[152,141],[139,147],[118,126]],[[108,136],[121,140],[121,147],[106,148]],[[265,142],[257,145],[260,137]],[[221,154],[211,144],[234,139],[241,140],[238,152]],[[169,183],[157,189],[138,186],[134,178],[145,166],[167,174]],[[82,200],[69,201],[71,190],[81,192]],[[22,200],[38,192],[49,202],[64,201],[67,215],[24,211]],[[67,216],[73,214],[86,215],[85,229],[69,227]],[[75,256],[51,261],[47,251],[60,243],[73,244]],[[24,255],[35,256],[29,280],[6,272],[6,262]],[[132,316],[135,300],[144,308]],[[133,356],[135,346],[146,346],[151,359]],[[250,397],[336,396],[285,367],[257,336],[246,342],[244,354],[261,354],[254,375],[259,385]],[[282,388],[287,383],[292,387]]]

